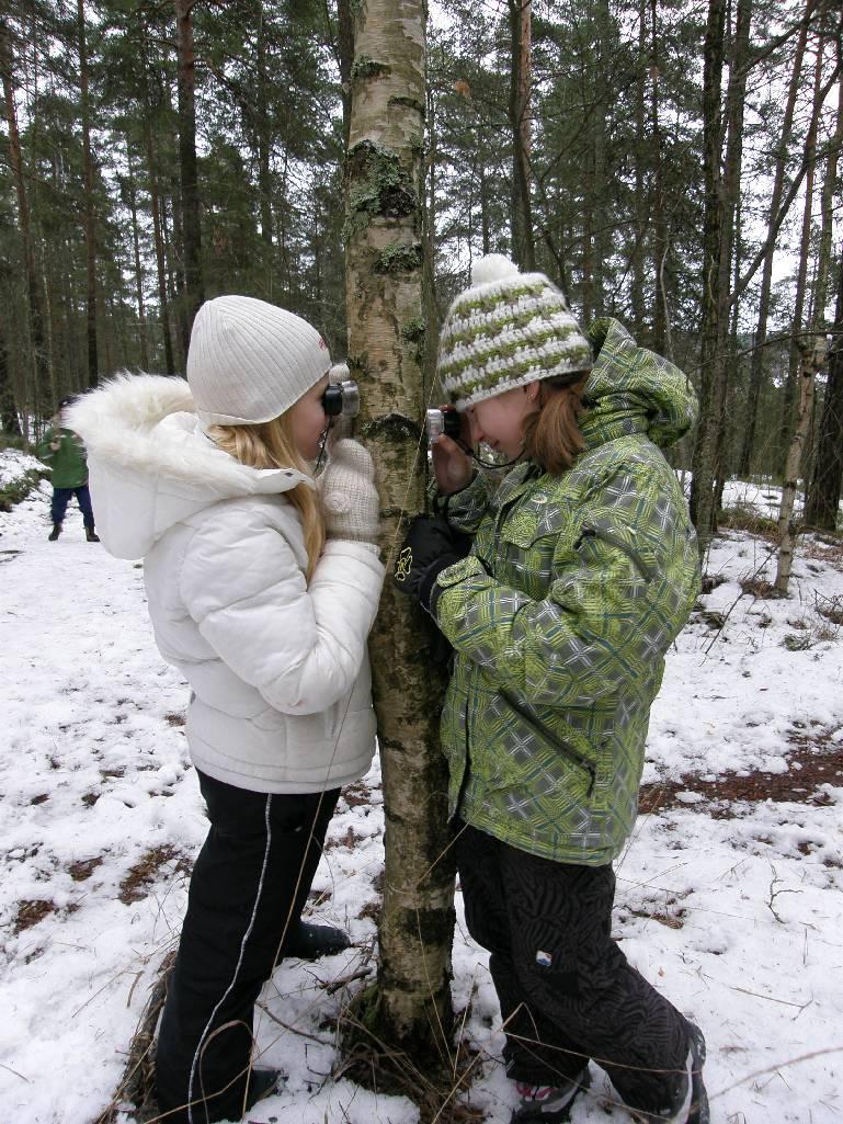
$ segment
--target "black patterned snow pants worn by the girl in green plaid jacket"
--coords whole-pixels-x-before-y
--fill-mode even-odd
[[[508,1076],[559,1085],[593,1059],[631,1107],[673,1104],[688,1024],[611,940],[611,867],[550,862],[456,828],[465,919],[491,953]]]

